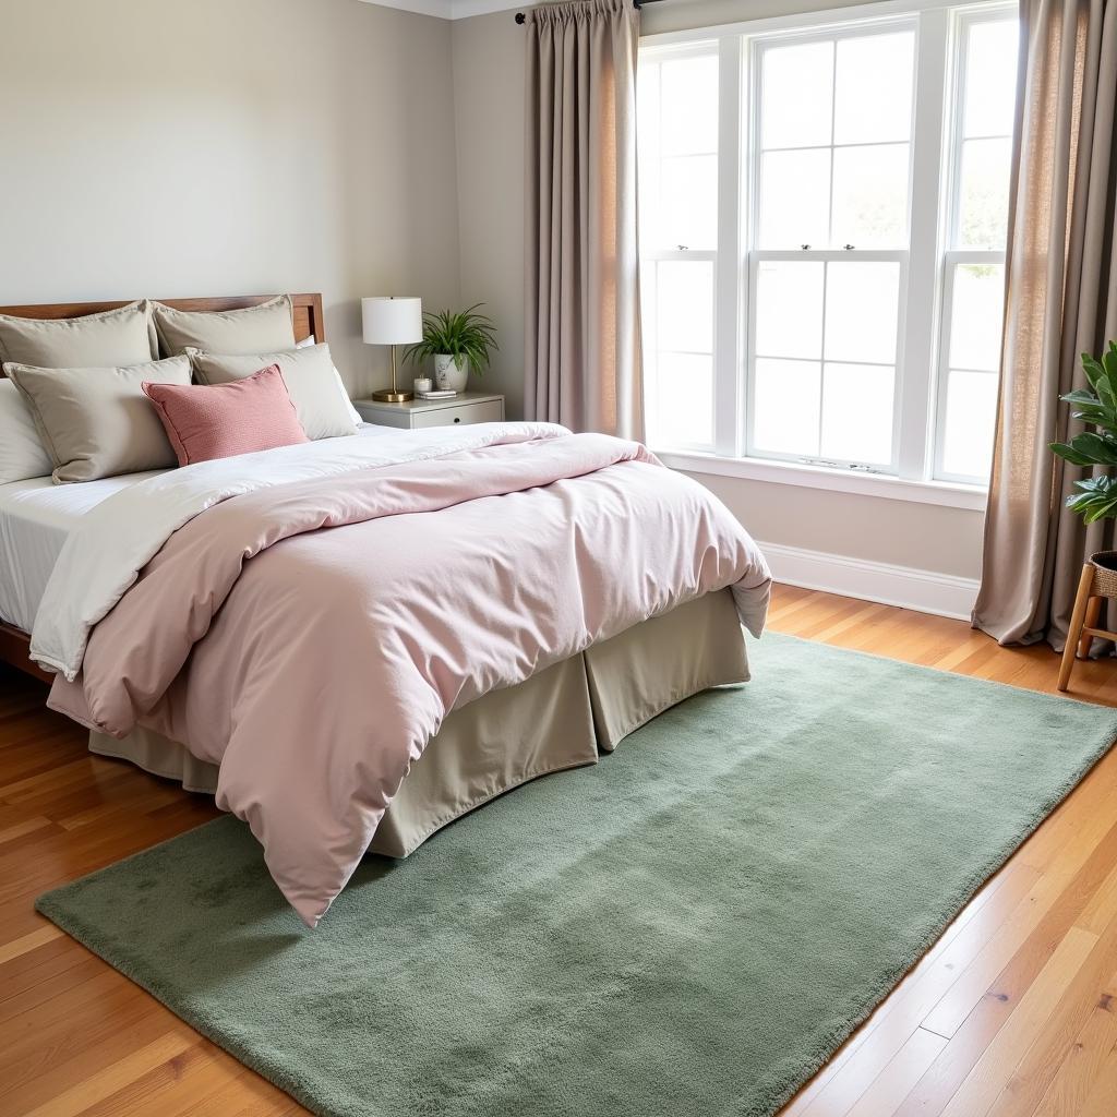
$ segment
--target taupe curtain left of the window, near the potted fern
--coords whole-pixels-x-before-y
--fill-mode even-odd
[[[643,438],[631,0],[527,12],[528,419]]]

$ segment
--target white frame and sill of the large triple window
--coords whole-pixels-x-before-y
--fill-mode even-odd
[[[963,7],[960,0],[881,0],[878,3],[829,12],[803,12],[772,19],[752,20],[715,28],[674,31],[646,36],[641,51],[677,51],[688,44],[707,50],[716,41],[720,56],[719,147],[718,147],[718,248],[715,262],[714,378],[715,438],[713,451],[658,450],[671,466],[699,472],[782,484],[838,489],[886,496],[894,499],[984,507],[985,486],[937,476],[935,460],[939,412],[945,391],[938,391],[945,292],[945,248],[953,210],[946,200],[956,197],[952,188],[952,165],[941,165],[944,134],[955,125],[946,117],[951,106],[961,111],[952,96],[956,75],[949,73],[955,51],[949,48],[954,26],[966,18],[1003,11],[1006,17],[1014,3],[991,0],[964,4],[956,16],[951,9]],[[758,174],[754,83],[758,66],[757,50],[774,41],[836,38],[888,31],[903,26],[916,28],[916,73],[911,164],[909,171],[910,235],[906,250],[811,250],[810,252],[760,250],[752,248],[756,228],[755,188]],[[747,92],[747,97],[742,96]],[[741,114],[747,126],[743,126]],[[949,128],[951,133],[946,133]],[[747,173],[747,171],[752,173]],[[951,209],[949,214],[946,210]],[[662,254],[646,252],[645,258]],[[682,259],[699,259],[705,254],[677,254]],[[894,462],[890,471],[849,468],[849,464],[804,461],[791,456],[750,452],[753,378],[747,369],[754,357],[751,321],[754,268],[760,258],[839,259],[888,258],[900,261],[900,325],[896,359]],[[906,289],[906,298],[905,298]],[[748,362],[748,363],[746,363]]]

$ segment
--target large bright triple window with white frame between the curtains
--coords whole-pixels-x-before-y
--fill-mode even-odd
[[[880,8],[641,51],[653,446],[987,481],[1015,9]]]

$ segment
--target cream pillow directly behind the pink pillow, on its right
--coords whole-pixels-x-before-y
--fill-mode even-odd
[[[254,353],[247,356],[191,350],[190,362],[194,366],[194,379],[200,384],[228,384],[276,364],[307,438],[340,438],[356,433],[353,405],[325,343],[305,345],[286,353]]]

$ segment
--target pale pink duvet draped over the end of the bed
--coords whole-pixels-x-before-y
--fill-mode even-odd
[[[725,586],[758,636],[768,584],[726,508],[637,443],[498,443],[214,505],[50,705],[220,764],[218,804],[314,926],[449,710]]]

